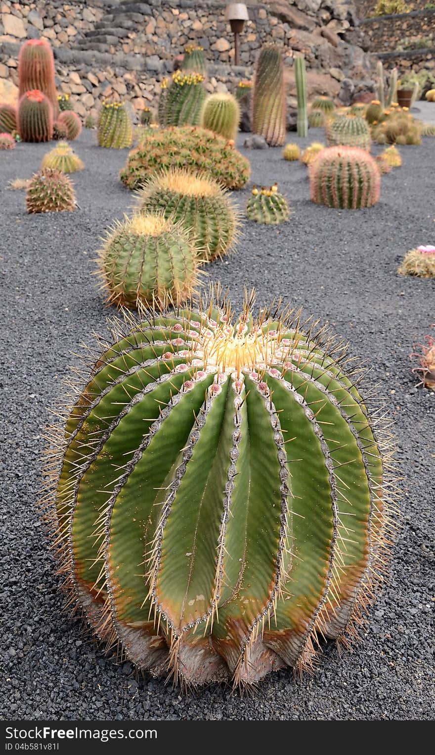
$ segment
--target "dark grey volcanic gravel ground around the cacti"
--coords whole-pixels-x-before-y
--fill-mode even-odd
[[[308,141],[323,134],[312,130]],[[294,137],[292,140],[299,141]],[[240,136],[240,143],[244,137]],[[340,656],[328,646],[314,676],[291,670],[240,698],[211,686],[183,696],[161,681],[136,680],[63,612],[44,527],[35,507],[47,407],[90,331],[105,331],[91,275],[99,237],[132,205],[118,181],[127,151],[98,149],[84,132],[75,149],[86,169],[73,177],[80,209],[26,215],[24,193],[8,181],[38,168],[44,145],[0,154],[2,231],[2,710],[6,719],[76,720],[429,720],[433,718],[433,530],[435,393],[416,387],[409,353],[435,320],[435,282],[402,278],[403,254],[435,242],[435,140],[403,147],[403,168],[382,177],[381,201],[335,211],[309,201],[306,168],[280,149],[247,151],[256,183],[279,182],[293,216],[283,226],[244,226],[237,253],[214,263],[213,281],[240,305],[244,285],[258,303],[283,294],[329,319],[353,353],[373,365],[373,381],[397,421],[403,529],[391,581],[370,614],[363,644]],[[52,145],[51,145],[52,146]],[[377,148],[375,151],[379,151]],[[244,207],[250,188],[236,193]]]

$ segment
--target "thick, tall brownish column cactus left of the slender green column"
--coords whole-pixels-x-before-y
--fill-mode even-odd
[[[283,56],[277,45],[264,45],[256,64],[253,88],[253,133],[270,146],[286,140]]]

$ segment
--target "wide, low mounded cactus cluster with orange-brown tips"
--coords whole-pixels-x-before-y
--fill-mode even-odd
[[[243,188],[250,177],[248,160],[233,144],[204,128],[184,126],[149,134],[130,152],[121,181],[139,189],[149,176],[167,168],[207,173],[227,189]]]

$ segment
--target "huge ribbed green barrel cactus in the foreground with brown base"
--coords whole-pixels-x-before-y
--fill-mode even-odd
[[[253,320],[252,301],[235,320],[219,291],[129,319],[55,434],[71,601],[138,670],[185,684],[311,669],[383,572],[382,422],[342,347],[300,313]]]

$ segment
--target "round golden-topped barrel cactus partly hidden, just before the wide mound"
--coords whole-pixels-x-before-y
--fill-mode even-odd
[[[139,193],[139,212],[157,212],[182,223],[200,260],[228,254],[236,240],[237,212],[225,189],[213,178],[184,168],[153,176]]]

